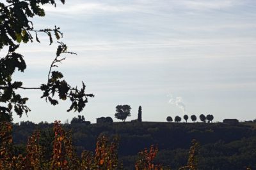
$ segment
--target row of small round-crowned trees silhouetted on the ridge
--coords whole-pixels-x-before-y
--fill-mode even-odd
[[[184,118],[184,120],[186,121],[186,122],[188,122],[188,115],[184,115],[183,116],[183,118]],[[193,121],[193,122],[195,122],[196,121],[196,115],[191,115],[191,120]],[[200,116],[199,116],[199,118],[200,118],[200,120],[202,121],[202,122],[206,122],[206,120],[207,120],[207,122],[209,123],[209,122],[212,122],[212,120],[213,120],[213,115],[207,115],[206,117],[205,117],[205,115],[204,114],[201,114]],[[167,117],[166,118],[166,120],[167,120],[167,122],[173,122],[173,119],[172,119],[172,117]],[[181,117],[179,117],[179,116],[176,116],[175,118],[174,118],[174,122],[180,122],[181,121]]]

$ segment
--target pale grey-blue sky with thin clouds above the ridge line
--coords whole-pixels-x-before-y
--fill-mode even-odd
[[[58,70],[71,85],[84,81],[95,97],[81,113],[67,113],[68,101],[51,106],[42,92],[19,90],[31,112],[13,115],[14,122],[65,122],[77,115],[92,123],[98,117],[119,121],[118,104],[131,106],[127,121],[137,118],[139,106],[150,122],[202,113],[219,122],[256,118],[256,1],[67,0],[44,8],[34,27],[57,25],[61,41],[77,53],[65,55]],[[39,37],[41,43],[19,49],[28,67],[14,77],[24,87],[47,81],[58,46]]]

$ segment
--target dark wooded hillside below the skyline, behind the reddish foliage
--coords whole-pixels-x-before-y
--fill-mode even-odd
[[[254,123],[253,123],[254,124]],[[156,162],[169,165],[176,169],[188,160],[188,151],[192,139],[200,142],[198,166],[200,169],[244,169],[256,168],[256,131],[252,125],[225,124],[177,124],[161,122],[122,122],[106,124],[63,124],[72,131],[72,140],[76,152],[80,155],[83,150],[95,150],[97,138],[102,135],[110,138],[118,136],[120,146],[119,159],[124,167],[133,169],[137,153],[152,144],[156,144],[159,153]],[[23,122],[13,126],[13,140],[16,144],[26,143],[28,136],[35,129],[42,132],[42,145],[49,148],[53,138],[52,124],[33,124]],[[24,146],[17,147],[19,151]],[[48,155],[51,157],[51,155]]]

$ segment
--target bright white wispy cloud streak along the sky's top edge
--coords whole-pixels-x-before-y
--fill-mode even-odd
[[[68,3],[68,2],[67,2]],[[167,5],[166,5],[167,4]],[[216,10],[223,8],[230,8],[237,5],[237,1],[132,1],[127,3],[125,1],[111,1],[95,2],[95,1],[72,1],[72,3],[54,8],[46,6],[45,10],[51,13],[65,13],[66,15],[77,15],[81,13],[99,14],[99,13],[120,13],[120,12],[141,12],[141,13],[161,13],[161,8],[164,10],[180,10],[180,12],[187,13],[186,10]]]

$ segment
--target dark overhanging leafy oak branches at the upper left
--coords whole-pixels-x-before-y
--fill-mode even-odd
[[[65,3],[65,0],[60,1]],[[71,87],[67,81],[63,80],[63,74],[60,71],[53,70],[65,59],[61,58],[61,54],[76,54],[68,52],[67,45],[61,42],[58,42],[56,57],[49,68],[46,83],[38,85],[38,87],[24,87],[22,81],[13,80],[15,71],[24,72],[27,67],[24,56],[16,52],[22,43],[35,41],[40,43],[38,34],[44,33],[49,37],[51,45],[53,35],[57,40],[63,36],[60,28],[56,26],[34,29],[35,24],[30,19],[36,16],[44,17],[45,11],[42,7],[45,4],[56,6],[56,0],[6,0],[6,3],[0,3],[0,50],[4,46],[8,47],[8,53],[0,59],[0,121],[12,121],[13,112],[21,117],[30,111],[26,105],[28,97],[22,97],[17,92],[18,89],[42,90],[41,98],[49,101],[52,105],[58,104],[58,99],[69,99],[71,104],[67,111],[81,112],[88,102],[88,97],[93,97],[93,94],[85,93],[84,83],[81,89]]]

